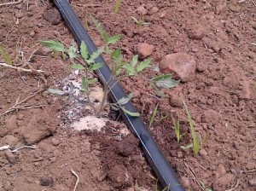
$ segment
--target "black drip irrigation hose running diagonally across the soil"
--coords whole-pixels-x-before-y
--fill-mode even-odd
[[[91,40],[89,34],[85,31],[84,26],[80,22],[78,16],[74,13],[71,5],[67,0],[54,0],[55,5],[60,10],[62,17],[67,23],[69,30],[73,33],[77,43],[84,41],[88,47],[90,55],[96,51],[96,45]],[[106,83],[111,78],[111,71],[102,58],[99,56],[96,58],[96,62],[104,64],[103,67],[97,70],[99,78],[103,83]],[[110,96],[114,102],[118,101],[122,97],[126,97],[125,91],[119,83],[114,85],[111,89]],[[132,106],[131,101],[125,104],[125,109],[131,112],[137,112]],[[178,181],[175,171],[173,171],[171,165],[169,165],[163,153],[160,151],[159,146],[154,141],[154,138],[150,135],[147,127],[143,123],[141,118],[133,118],[127,113],[121,112],[127,126],[137,136],[141,142],[142,148],[146,157],[152,166],[155,174],[159,178],[159,181],[163,188],[168,188],[169,191],[184,191],[183,186]]]

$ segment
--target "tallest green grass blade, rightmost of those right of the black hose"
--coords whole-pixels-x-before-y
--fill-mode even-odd
[[[183,101],[183,99],[182,99]],[[185,103],[185,101],[183,101],[183,106],[184,106],[184,109],[187,113],[187,116],[188,116],[188,120],[189,120],[189,130],[190,130],[190,133],[191,133],[191,136],[192,136],[192,142],[187,145],[187,146],[181,146],[181,148],[183,149],[189,149],[189,148],[192,148],[193,149],[193,152],[195,155],[197,155],[200,151],[200,138],[199,136],[197,135],[197,133],[195,132],[195,127],[194,127],[194,124],[193,124],[193,119],[189,113],[189,109]]]

